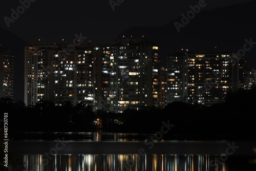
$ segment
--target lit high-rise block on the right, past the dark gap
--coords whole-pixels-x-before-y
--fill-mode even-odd
[[[167,60],[167,103],[212,105],[241,87],[244,58],[223,52],[170,54]],[[243,82],[246,82],[244,79]]]

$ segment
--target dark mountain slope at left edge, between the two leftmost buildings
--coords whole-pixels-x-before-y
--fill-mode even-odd
[[[0,28],[0,44],[14,54],[14,99],[24,101],[24,47],[29,43]]]

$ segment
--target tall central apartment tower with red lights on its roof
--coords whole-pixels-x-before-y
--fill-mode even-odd
[[[146,39],[123,38],[110,47],[110,110],[158,106],[158,47]]]

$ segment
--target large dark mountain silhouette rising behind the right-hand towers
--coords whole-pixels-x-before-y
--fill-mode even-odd
[[[182,24],[182,16],[162,27],[132,27],[118,37],[144,35],[145,38],[157,42],[161,49],[163,66],[168,53],[180,51],[182,48],[193,52],[218,50],[238,53],[244,48],[245,39],[252,38],[252,41],[256,42],[255,6],[256,1],[252,1],[210,11],[201,9],[184,28],[180,28],[179,33],[174,22]],[[187,13],[184,14],[187,16]],[[256,45],[253,45],[245,56],[254,68],[255,55]]]

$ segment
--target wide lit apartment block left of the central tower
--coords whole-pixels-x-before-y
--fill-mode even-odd
[[[108,92],[110,52],[101,46],[81,44],[33,44],[25,48],[25,103],[49,100],[84,102],[103,108]],[[103,101],[103,102],[102,102]],[[106,106],[106,104],[105,104]]]

